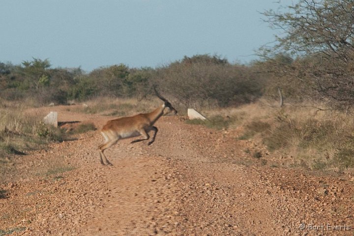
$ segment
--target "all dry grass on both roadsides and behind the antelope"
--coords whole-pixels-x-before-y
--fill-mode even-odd
[[[103,97],[86,104],[88,107],[68,109],[115,117],[132,116],[154,110],[161,101],[157,98],[140,101]],[[37,117],[25,117],[23,110],[24,107],[14,104],[2,103],[0,107],[0,166],[6,162],[1,157],[8,153],[21,154],[64,138],[62,130],[44,125]],[[320,170],[354,167],[353,115],[290,105],[273,108],[261,103],[201,112],[207,121],[187,122],[215,129],[237,128],[241,132],[239,139],[258,142],[274,155],[293,156],[293,166]],[[78,128],[76,132],[79,133],[95,129],[93,124]],[[254,157],[261,156],[255,154]]]

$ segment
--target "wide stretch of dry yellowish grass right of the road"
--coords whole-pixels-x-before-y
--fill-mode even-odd
[[[222,122],[214,126],[199,123],[219,128],[224,122],[225,128],[237,128],[241,131],[239,139],[260,143],[273,155],[293,157],[291,166],[316,170],[354,167],[353,114],[319,111],[301,104],[276,108],[262,103],[202,110],[202,114]]]

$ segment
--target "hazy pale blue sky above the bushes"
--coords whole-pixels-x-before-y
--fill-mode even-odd
[[[0,61],[33,57],[86,71],[155,67],[196,54],[248,62],[274,39],[259,12],[277,8],[275,1],[0,0]]]

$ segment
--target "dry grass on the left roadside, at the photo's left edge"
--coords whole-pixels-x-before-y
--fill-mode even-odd
[[[26,158],[22,155],[30,150],[47,148],[50,142],[65,138],[60,128],[45,125],[38,116],[25,115],[24,107],[8,104],[0,108],[0,183],[28,174],[18,169],[18,164],[21,166]]]

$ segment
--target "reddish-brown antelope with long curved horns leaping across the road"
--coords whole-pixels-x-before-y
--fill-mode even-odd
[[[150,138],[148,132],[152,130],[154,131],[154,134],[152,136],[152,139],[148,142],[148,145],[151,145],[155,141],[156,133],[158,131],[156,126],[153,126],[154,123],[162,115],[166,115],[171,112],[173,112],[174,115],[177,114],[177,110],[172,107],[171,103],[157,92],[155,86],[153,88],[155,90],[156,96],[164,102],[161,106],[159,106],[150,113],[109,120],[101,129],[101,133],[105,139],[105,142],[98,146],[102,165],[104,165],[102,159],[103,156],[106,161],[106,165],[112,166],[112,163],[107,159],[106,155],[103,152],[105,149],[111,147],[112,145],[115,145],[118,140],[138,136],[143,136],[143,138],[133,140],[131,144],[148,140]],[[167,109],[168,111],[165,112],[165,109]]]

